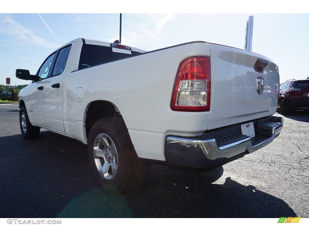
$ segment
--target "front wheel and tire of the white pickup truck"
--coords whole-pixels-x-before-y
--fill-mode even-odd
[[[21,134],[26,140],[36,139],[40,135],[40,127],[33,126],[28,118],[26,108],[22,106],[19,110],[19,124]]]

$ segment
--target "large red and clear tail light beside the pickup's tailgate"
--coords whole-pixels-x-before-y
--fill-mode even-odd
[[[210,110],[210,58],[190,57],[180,63],[170,107],[173,111]]]

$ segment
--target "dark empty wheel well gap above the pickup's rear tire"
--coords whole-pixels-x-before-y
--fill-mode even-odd
[[[87,139],[91,127],[96,121],[106,117],[121,117],[121,113],[116,105],[105,100],[97,100],[89,103],[86,107],[85,114],[85,132]]]

